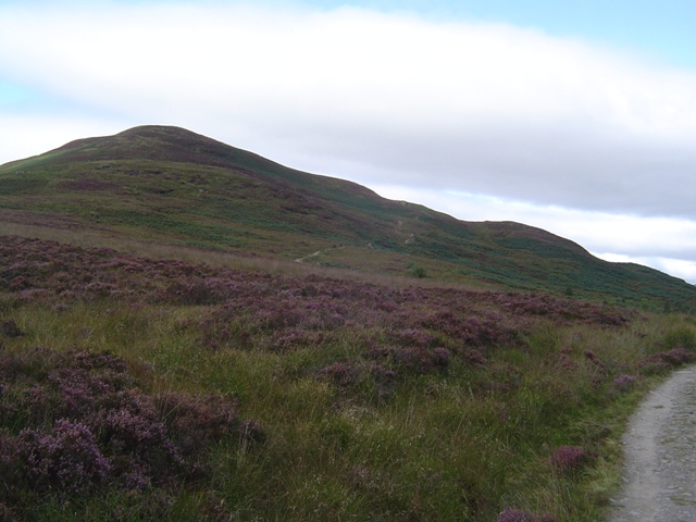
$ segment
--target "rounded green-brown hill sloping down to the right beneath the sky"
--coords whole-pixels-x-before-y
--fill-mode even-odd
[[[512,222],[464,222],[189,130],[140,126],[0,166],[0,222],[691,310],[696,287]]]

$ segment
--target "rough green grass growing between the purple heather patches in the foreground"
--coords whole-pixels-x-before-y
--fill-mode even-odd
[[[308,287],[312,277],[273,284]],[[639,375],[637,364],[650,353],[696,347],[687,315],[637,316],[619,327],[539,319],[522,344],[485,348],[484,366],[452,357],[442,371],[400,373],[380,398],[374,362],[363,353],[365,343],[389,343],[387,323],[326,330],[278,351],[271,348],[273,332],[245,314],[210,323],[221,304],[102,298],[57,306],[7,291],[2,302],[0,319],[25,334],[3,338],[5,353],[34,346],[108,350],[128,362],[148,393],[236,398],[241,415],[268,434],[260,446],[211,447],[211,478],[196,487],[146,492],[137,501],[104,492],[70,506],[48,495],[24,511],[34,520],[110,520],[115,512],[128,520],[216,520],[220,510],[233,520],[489,521],[508,506],[558,521],[601,520],[619,485],[623,423],[659,375],[626,393],[617,393],[612,378]],[[470,313],[490,311],[481,306]],[[223,327],[231,339],[211,348],[207,339]],[[455,349],[444,331],[432,334]],[[320,370],[337,361],[361,377],[347,386],[321,378]],[[554,470],[550,453],[562,445],[586,448],[593,464],[573,475]]]

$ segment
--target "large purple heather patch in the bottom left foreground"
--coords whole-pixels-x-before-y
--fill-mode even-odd
[[[97,486],[142,493],[206,476],[217,440],[263,440],[254,421],[220,396],[150,396],[123,359],[46,348],[0,355],[0,501],[26,494],[74,496]],[[12,430],[12,431],[11,431]]]

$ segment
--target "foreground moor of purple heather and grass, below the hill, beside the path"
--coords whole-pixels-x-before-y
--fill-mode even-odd
[[[2,237],[0,507],[600,520],[622,422],[692,360],[693,318],[420,282]]]

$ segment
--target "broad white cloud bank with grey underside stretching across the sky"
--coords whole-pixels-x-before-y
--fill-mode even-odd
[[[355,158],[381,182],[696,217],[696,75],[537,32],[352,9],[10,10],[0,67],[145,123]]]

